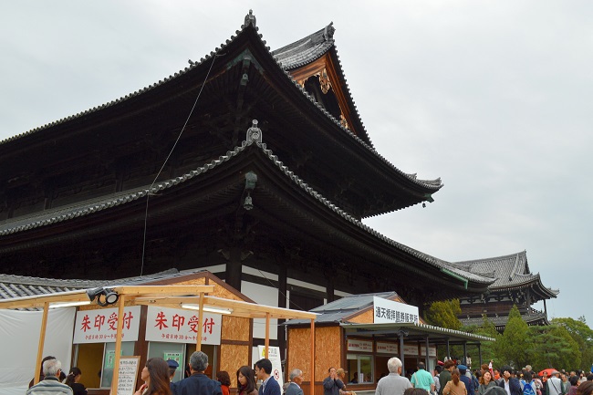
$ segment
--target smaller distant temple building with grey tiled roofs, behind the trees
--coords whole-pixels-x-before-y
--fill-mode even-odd
[[[559,291],[542,284],[539,274],[533,274],[527,265],[527,253],[459,262],[463,270],[492,275],[494,283],[488,287],[488,294],[460,298],[463,325],[480,326],[484,316],[494,323],[499,332],[505,330],[511,308],[516,305],[527,325],[549,325],[546,300],[556,297]],[[544,311],[532,306],[544,302]]]

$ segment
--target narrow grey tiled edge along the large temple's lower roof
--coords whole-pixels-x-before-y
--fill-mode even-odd
[[[236,147],[234,151],[227,151],[226,155],[223,155],[219,157],[219,159],[205,164],[203,167],[200,167],[192,172],[185,173],[180,177],[175,177],[167,181],[155,183],[151,187],[151,193],[157,193],[164,190],[168,190],[183,182],[189,182],[190,180],[199,177],[201,174],[205,172],[209,172],[214,168],[224,165],[224,163],[226,163],[227,161],[234,160],[234,158],[239,157],[242,153],[250,149],[262,152],[267,159],[272,161],[274,165],[285,174],[286,177],[288,177],[292,182],[294,182],[296,188],[300,188],[301,190],[315,198],[318,203],[326,206],[329,210],[333,211],[334,213],[337,213],[340,217],[342,217],[349,223],[353,223],[362,231],[372,234],[374,237],[380,239],[380,241],[386,244],[390,244],[396,249],[403,251],[408,255],[412,255],[429,265],[435,266],[440,269],[452,271],[456,275],[460,275],[461,277],[471,280],[475,283],[492,283],[492,277],[489,277],[487,275],[475,274],[469,271],[465,272],[462,268],[456,267],[446,261],[443,261],[442,259],[421,253],[420,251],[408,247],[407,245],[393,241],[388,237],[380,234],[379,232],[371,229],[366,224],[361,223],[357,218],[351,216],[349,213],[346,213],[345,211],[340,209],[336,204],[331,203],[331,201],[326,199],[319,192],[309,187],[307,185],[307,182],[303,182],[303,180],[301,180],[294,172],[288,170],[288,168],[283,164],[282,161],[278,161],[278,158],[276,157],[276,155],[273,154],[272,151],[266,149],[264,143],[256,143],[254,141],[247,143],[246,141],[243,141],[241,147]],[[68,207],[61,207],[55,210],[47,210],[41,213],[29,215],[27,217],[19,217],[14,220],[5,220],[4,222],[0,223],[0,236],[7,234],[16,234],[18,232],[24,232],[26,230],[47,226],[53,223],[60,223],[63,221],[72,220],[81,216],[90,215],[92,213],[99,213],[104,210],[109,210],[110,208],[115,206],[120,206],[122,204],[137,201],[140,198],[145,197],[148,192],[149,187],[145,186],[134,191],[121,192],[118,194],[109,195],[101,199],[95,199],[88,202],[74,204]]]

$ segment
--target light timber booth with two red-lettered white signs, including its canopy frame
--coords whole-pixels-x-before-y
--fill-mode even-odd
[[[243,365],[251,366],[254,318],[265,318],[265,357],[270,319],[300,318],[309,320],[311,328],[315,325],[315,313],[256,305],[207,272],[170,282],[15,297],[0,301],[0,308],[43,308],[36,372],[41,369],[46,333],[51,330],[47,327],[49,309],[78,308],[71,366],[88,372],[85,385],[89,394],[101,395],[109,390],[127,394],[122,390],[124,384],[127,390],[138,388],[140,371],[153,357],[178,360],[180,368],[174,380],[183,379],[183,367],[196,349],[209,357],[206,374],[213,378],[216,371],[226,370],[236,387],[234,372]],[[314,335],[315,331],[309,333]],[[314,359],[313,335],[307,339],[310,360]],[[135,374],[122,379],[124,363],[134,365]],[[118,383],[120,390],[116,392]]]

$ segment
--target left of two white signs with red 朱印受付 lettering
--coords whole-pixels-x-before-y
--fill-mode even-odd
[[[138,340],[140,328],[140,306],[124,307],[121,319],[122,341]],[[79,310],[74,324],[74,344],[111,343],[116,341],[118,330],[118,309],[99,308]]]

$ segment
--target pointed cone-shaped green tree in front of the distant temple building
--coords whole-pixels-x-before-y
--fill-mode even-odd
[[[521,317],[519,309],[513,306],[506,321],[505,332],[495,347],[502,363],[520,368],[533,360],[532,341],[528,330],[529,327]]]

